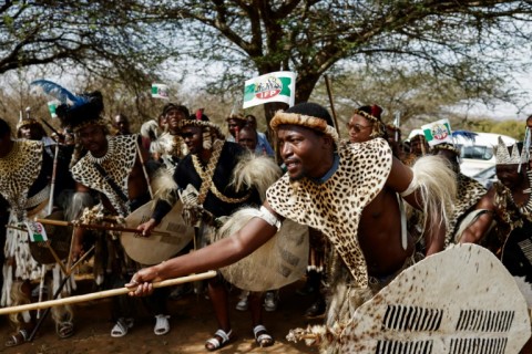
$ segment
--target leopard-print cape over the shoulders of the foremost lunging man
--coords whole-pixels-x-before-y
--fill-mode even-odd
[[[392,155],[385,139],[361,144],[341,142],[340,163],[325,183],[304,178],[291,184],[285,174],[267,191],[270,207],[280,216],[321,231],[341,257],[356,283],[368,287],[366,260],[357,230],[364,208],[382,189]]]

